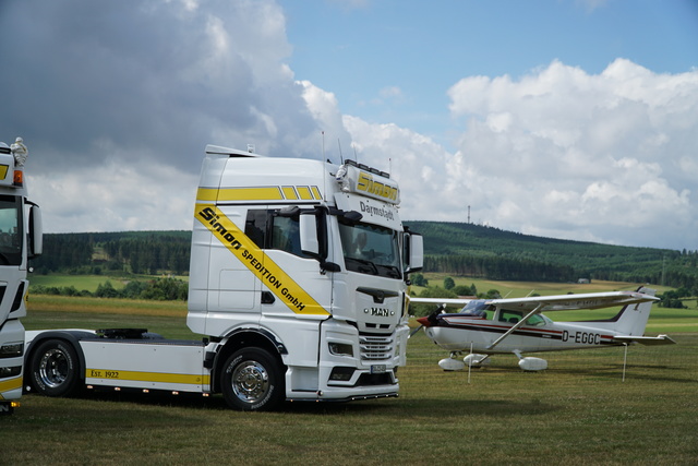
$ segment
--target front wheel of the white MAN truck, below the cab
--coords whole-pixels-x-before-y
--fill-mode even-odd
[[[274,409],[286,396],[281,363],[262,348],[233,353],[220,377],[222,396],[234,409]]]

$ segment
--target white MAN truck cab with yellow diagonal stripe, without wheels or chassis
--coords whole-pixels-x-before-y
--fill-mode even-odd
[[[287,399],[396,395],[407,276],[422,265],[421,237],[399,219],[397,183],[350,160],[206,152],[190,328],[226,344],[268,342]]]

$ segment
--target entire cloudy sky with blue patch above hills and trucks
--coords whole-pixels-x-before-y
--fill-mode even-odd
[[[406,220],[698,250],[696,0],[0,0],[0,60],[47,232],[191,229],[205,145],[254,144]]]

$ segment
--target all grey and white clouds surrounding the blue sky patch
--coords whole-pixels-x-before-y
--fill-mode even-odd
[[[0,74],[12,109],[0,136],[29,146],[47,231],[190,228],[205,144],[314,158],[324,148],[337,162],[340,141],[346,158],[356,151],[400,182],[407,219],[466,222],[470,205],[473,222],[514,231],[698,243],[698,71],[617,59],[599,74],[553,61],[520,77],[464,77],[448,89],[448,151],[342,115],[332,89],[294,80],[273,0],[53,3],[10,2],[0,16],[0,31],[33,26],[21,43],[0,37],[12,63]],[[378,95],[405,98],[397,86]]]

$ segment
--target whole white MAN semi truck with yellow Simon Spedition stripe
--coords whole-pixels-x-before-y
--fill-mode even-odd
[[[282,401],[396,396],[408,274],[422,237],[404,228],[388,174],[350,160],[207,146],[194,208],[186,323],[27,332],[29,390],[222,393],[243,410]]]

